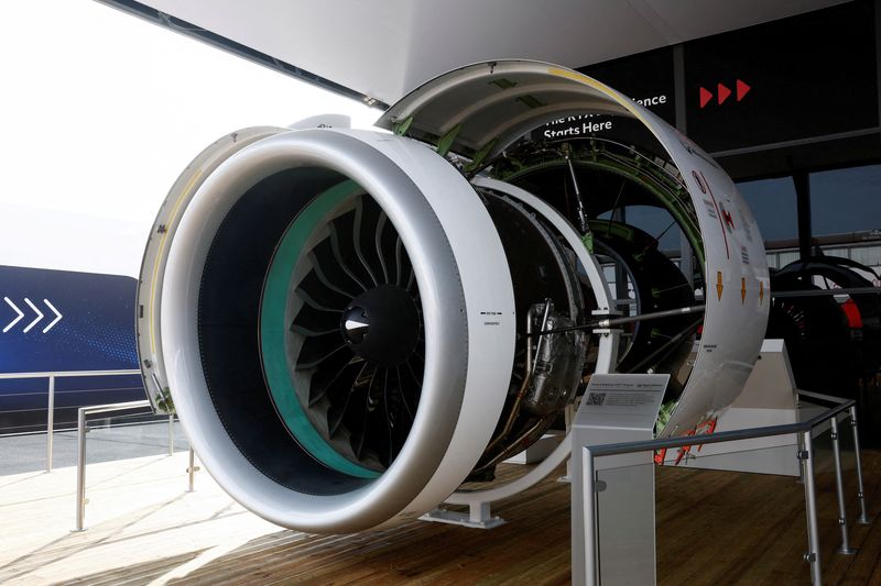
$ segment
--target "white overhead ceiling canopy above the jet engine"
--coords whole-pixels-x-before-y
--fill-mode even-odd
[[[387,103],[475,62],[525,58],[581,67],[842,2],[102,1],[142,13],[149,7]]]

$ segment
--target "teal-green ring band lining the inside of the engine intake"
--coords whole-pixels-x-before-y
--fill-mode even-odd
[[[260,346],[263,371],[275,409],[296,441],[318,462],[358,478],[377,478],[379,473],[359,466],[339,454],[306,417],[296,398],[287,367],[285,308],[291,295],[291,275],[313,231],[328,212],[362,189],[344,181],[318,195],[294,219],[270,264],[260,308]]]

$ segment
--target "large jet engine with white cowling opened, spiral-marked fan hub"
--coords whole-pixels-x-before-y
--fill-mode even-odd
[[[138,294],[144,382],[237,500],[311,532],[418,517],[492,479],[563,419],[586,377],[617,367],[616,305],[584,230],[486,173],[572,110],[635,118],[659,136],[681,166],[701,268],[714,285],[718,274],[665,433],[733,400],[768,308],[761,240],[730,180],[580,74],[480,64],[392,107],[378,124],[391,132],[246,129],[172,187]],[[708,189],[739,225],[711,215]]]

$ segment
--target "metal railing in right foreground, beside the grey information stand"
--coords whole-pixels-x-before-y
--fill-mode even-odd
[[[845,511],[845,493],[844,482],[841,478],[841,456],[840,447],[838,445],[838,416],[847,411],[848,414],[845,419],[850,418],[850,424],[853,432],[853,451],[856,455],[857,468],[857,500],[860,506],[860,517],[858,522],[868,524],[869,518],[866,513],[866,496],[862,484],[862,462],[860,460],[860,444],[859,434],[857,429],[857,408],[856,401],[845,400],[838,397],[830,397],[828,395],[819,395],[816,392],[807,392],[798,390],[801,397],[812,399],[819,399],[823,401],[838,402],[836,407],[827,409],[826,411],[817,414],[816,417],[786,425],[770,425],[766,428],[751,428],[735,431],[724,431],[705,435],[686,435],[678,438],[667,438],[662,440],[648,440],[641,442],[628,443],[612,443],[603,445],[586,445],[581,449],[581,463],[583,463],[583,480],[584,480],[584,507],[583,518],[585,530],[585,578],[588,586],[597,586],[599,584],[599,541],[597,535],[597,471],[595,458],[601,456],[633,454],[637,452],[655,452],[670,447],[687,447],[696,444],[710,444],[731,442],[737,440],[750,440],[755,438],[770,438],[773,435],[798,434],[798,452],[797,458],[802,465],[802,479],[805,487],[805,508],[807,516],[807,540],[808,552],[805,554],[805,560],[811,564],[811,579],[812,584],[819,586],[823,584],[820,574],[820,557],[819,557],[819,529],[817,524],[817,495],[816,484],[814,478],[814,447],[813,447],[813,430],[817,425],[826,421],[831,425],[831,441],[833,454],[835,462],[836,475],[836,493],[838,499],[838,524],[841,531],[841,546],[838,549],[840,553],[852,553],[848,541],[847,531],[847,517]],[[646,464],[653,465],[653,464]]]

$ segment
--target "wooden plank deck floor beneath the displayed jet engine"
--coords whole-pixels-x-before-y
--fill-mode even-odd
[[[94,464],[87,531],[73,533],[74,468],[0,477],[0,584],[567,584],[569,487],[548,479],[497,507],[491,531],[413,522],[316,537],[244,511],[185,454]],[[870,513],[881,452],[864,454]],[[852,476],[849,474],[848,477]],[[881,584],[881,522],[838,546],[834,479],[819,474],[826,584]],[[660,584],[807,584],[804,490],[793,478],[657,469]],[[852,484],[848,494],[853,495]],[[856,501],[848,504],[856,517]]]

